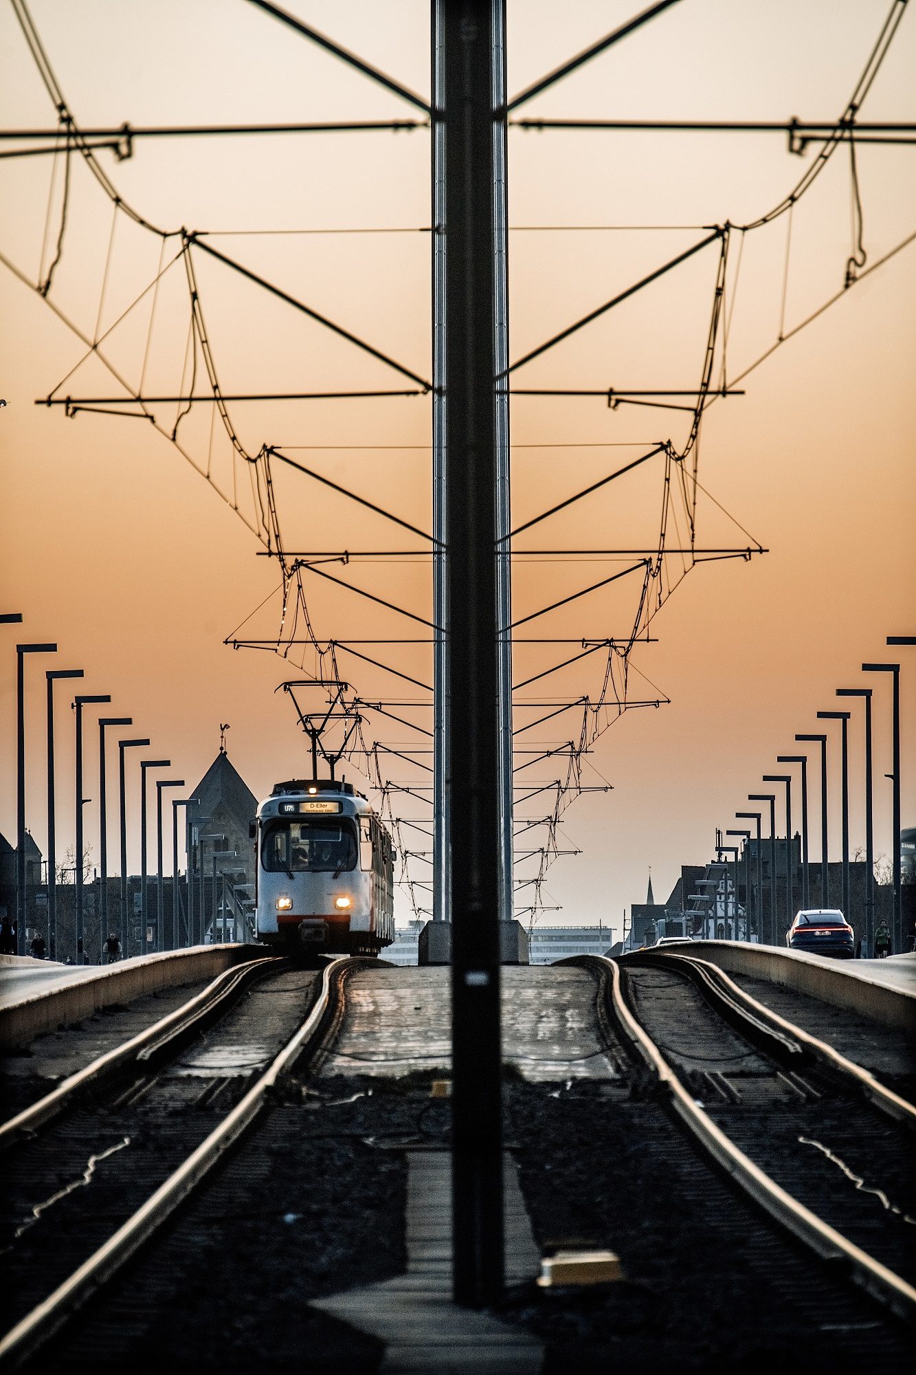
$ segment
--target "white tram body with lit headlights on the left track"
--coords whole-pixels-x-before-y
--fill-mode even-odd
[[[352,784],[278,782],[252,824],[257,939],[378,954],[395,939],[395,847]]]

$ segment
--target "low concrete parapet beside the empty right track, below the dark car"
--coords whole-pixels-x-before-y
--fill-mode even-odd
[[[862,971],[858,960],[828,961],[803,950],[780,950],[777,946],[737,940],[693,940],[675,949],[718,964],[726,974],[769,979],[836,1008],[849,1008],[910,1037],[916,1034],[916,993]]]

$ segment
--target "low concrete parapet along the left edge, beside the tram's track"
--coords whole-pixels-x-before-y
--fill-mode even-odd
[[[28,1045],[36,1035],[59,1026],[81,1022],[113,1002],[132,1002],[160,989],[179,989],[186,983],[215,979],[223,969],[268,952],[261,946],[230,943],[197,946],[193,950],[169,950],[165,954],[121,960],[98,969],[84,979],[44,987],[17,1002],[0,1008],[0,1049]],[[17,961],[25,964],[25,961]],[[43,961],[29,961],[41,964]],[[50,971],[61,965],[48,965]]]

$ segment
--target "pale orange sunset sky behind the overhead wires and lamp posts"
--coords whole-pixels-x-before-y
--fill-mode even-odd
[[[370,84],[245,0],[30,0],[51,66],[81,126],[144,124],[410,120],[418,111]],[[419,0],[347,4],[289,0],[334,41],[429,91],[429,7]],[[527,87],[629,18],[640,6],[509,0],[509,88]],[[527,118],[832,121],[855,87],[890,0],[682,0],[524,107]],[[47,129],[55,111],[10,4],[0,7],[0,124]],[[916,18],[904,15],[860,111],[861,121],[912,122]],[[6,151],[11,144],[4,144]],[[708,234],[763,216],[814,158],[780,133],[531,132],[512,129],[510,356],[517,359]],[[153,226],[182,227],[314,311],[367,340],[419,377],[430,363],[429,135],[309,133],[138,140],[133,155],[98,154],[118,195]],[[916,232],[916,147],[861,144],[857,169],[865,268]],[[85,668],[84,692],[109,692],[111,714],[133,716],[150,756],[171,758],[188,789],[219,748],[252,789],[307,771],[305,741],[278,685],[315,670],[315,656],[285,663],[223,641],[278,634],[276,562],[257,557],[259,507],[243,459],[234,458],[210,404],[182,418],[151,404],[143,418],[36,407],[50,393],[125,396],[125,389],[61,314],[102,342],[107,362],[143,395],[184,395],[191,381],[188,279],[162,239],[124,213],[78,157],[72,164],[66,234],[47,300],[33,289],[55,257],[63,158],[0,160],[0,510],[3,606],[22,627],[0,627],[0,749],[7,780],[0,829],[15,840],[15,644],[56,641],[59,654],[28,668],[29,826],[44,850],[44,668]],[[333,232],[309,232],[333,231]],[[348,231],[348,232],[344,232]],[[366,232],[349,232],[366,231]],[[386,231],[386,232],[367,232]],[[734,380],[843,287],[853,250],[849,146],[840,147],[791,217],[732,234],[726,265],[728,352],[717,385]],[[217,236],[219,235],[219,236]],[[706,348],[718,243],[609,311],[514,374],[524,388],[653,390],[696,388]],[[413,384],[320,324],[191,250],[213,360],[227,395],[360,390]],[[168,268],[168,270],[166,270]],[[158,289],[147,290],[158,274]],[[32,287],[22,280],[32,283]],[[733,826],[747,793],[781,773],[796,732],[838,708],[835,688],[875,688],[876,852],[891,850],[890,682],[866,678],[865,660],[904,656],[904,825],[916,818],[916,659],[888,650],[888,634],[916,630],[916,242],[788,338],[717,399],[699,441],[697,549],[767,550],[750,561],[699,564],[651,623],[651,644],[630,660],[629,694],[671,698],[626,712],[583,759],[586,793],[563,817],[542,901],[542,923],[598,920],[618,934],[622,912],[667,896],[681,864],[710,858],[715,826]],[[146,294],[128,311],[128,307]],[[128,312],[128,314],[124,314]],[[118,319],[124,315],[120,323]],[[198,353],[198,395],[205,395]],[[131,407],[136,410],[136,407]],[[241,444],[281,448],[331,481],[429,529],[428,396],[230,404]],[[685,443],[684,412],[597,397],[512,403],[513,525],[598,481],[660,441]],[[209,473],[209,480],[205,474]],[[289,550],[400,550],[322,565],[415,616],[430,616],[429,561],[418,536],[314,480],[274,465]],[[657,544],[664,459],[601,488],[520,536],[514,619],[630,566],[622,556],[542,550],[652,549]],[[673,490],[677,483],[673,484]],[[671,546],[686,539],[674,499]],[[677,524],[681,522],[681,524]],[[689,560],[668,558],[666,583]],[[320,641],[422,638],[425,631],[318,575],[305,573]],[[568,641],[626,635],[641,575],[620,579],[520,630]],[[289,628],[289,627],[286,627]],[[400,672],[429,681],[428,645],[363,646]],[[576,653],[576,645],[517,645],[517,683]],[[404,704],[429,727],[428,696],[355,657],[341,671],[359,694]],[[523,689],[516,725],[532,708],[601,688],[591,656]],[[58,851],[72,840],[72,718],[59,689]],[[106,708],[107,711],[107,708]],[[542,711],[536,710],[541,715]],[[850,723],[853,848],[864,844],[861,707]],[[525,733],[538,752],[563,747],[575,712]],[[839,730],[831,754],[839,780]],[[87,770],[95,777],[95,730]],[[413,748],[429,741],[374,718],[367,740]],[[524,748],[528,748],[525,745]],[[516,764],[525,762],[519,755]],[[347,776],[359,784],[359,760]],[[393,781],[422,785],[422,769],[397,758]],[[139,770],[138,770],[139,773]],[[528,776],[556,776],[534,764]],[[136,791],[136,782],[133,784]],[[114,789],[113,789],[114,791]],[[98,784],[88,789],[98,798]],[[817,792],[813,788],[813,803]],[[838,802],[838,791],[833,795]],[[133,807],[135,799],[132,799]],[[406,798],[400,814],[428,825]],[[546,804],[545,804],[546,810]],[[114,807],[111,813],[114,818]],[[528,804],[525,817],[538,808]],[[781,808],[777,817],[781,815]],[[814,815],[814,810],[813,810]],[[136,825],[133,826],[136,832]],[[87,808],[98,857],[98,807]],[[428,847],[407,828],[411,848]],[[531,844],[532,836],[538,836]],[[519,848],[541,844],[528,832]],[[839,808],[832,815],[839,858]],[[139,843],[133,835],[132,869]],[[535,872],[532,861],[519,877]],[[422,858],[414,877],[428,879]],[[419,894],[428,906],[428,894]],[[521,890],[520,909],[531,901]],[[400,902],[399,917],[410,914]],[[525,914],[527,918],[527,914]]]

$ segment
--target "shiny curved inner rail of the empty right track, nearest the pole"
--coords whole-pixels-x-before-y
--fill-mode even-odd
[[[776,1180],[754,1163],[700,1108],[627,1006],[620,987],[620,967],[607,956],[587,956],[583,964],[611,965],[611,1013],[635,1056],[656,1077],[670,1106],[699,1145],[780,1226],[789,1231],[827,1261],[843,1261],[853,1283],[884,1308],[909,1321],[916,1319],[916,1288],[876,1261],[861,1247],[824,1222],[792,1198]]]

